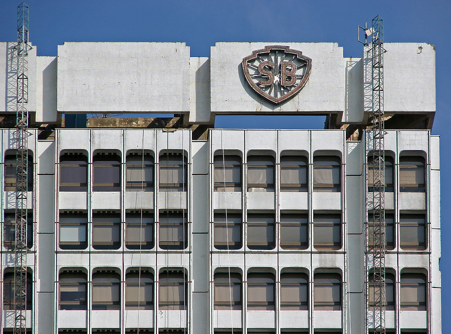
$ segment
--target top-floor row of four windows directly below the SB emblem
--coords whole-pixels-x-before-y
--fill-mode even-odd
[[[242,191],[242,158],[217,154],[213,157],[214,191]],[[275,190],[276,161],[272,155],[249,155],[247,159],[247,191]],[[308,159],[304,155],[282,155],[280,158],[280,191],[308,190]],[[313,157],[313,191],[341,191],[341,158],[336,155]]]

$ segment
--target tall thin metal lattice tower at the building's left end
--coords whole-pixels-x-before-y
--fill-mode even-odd
[[[26,334],[27,309],[27,191],[28,191],[28,23],[29,7],[17,10],[17,149],[16,238],[14,247],[14,334]]]

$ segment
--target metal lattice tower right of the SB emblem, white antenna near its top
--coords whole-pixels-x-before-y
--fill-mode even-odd
[[[368,219],[367,231],[373,233],[373,242],[368,243],[368,268],[374,280],[372,295],[375,334],[385,334],[385,177],[384,177],[384,41],[383,21],[379,15],[372,20],[371,71],[372,71],[372,129],[368,148],[372,153],[373,187],[367,197],[372,219]],[[372,290],[372,291],[371,291]]]

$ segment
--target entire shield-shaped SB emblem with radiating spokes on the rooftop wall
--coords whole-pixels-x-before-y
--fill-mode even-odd
[[[311,69],[311,58],[285,45],[268,45],[243,58],[243,71],[250,86],[274,103],[299,92]]]

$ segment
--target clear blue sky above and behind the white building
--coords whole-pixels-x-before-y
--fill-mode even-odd
[[[0,0],[0,41],[17,39],[20,1]],[[379,14],[386,42],[427,42],[436,46],[436,115],[440,135],[441,261],[443,332],[451,332],[451,1],[247,1],[247,0],[29,0],[30,41],[38,55],[57,55],[64,41],[183,41],[192,56],[209,56],[216,41],[338,42],[345,57],[360,57],[357,25]],[[418,83],[420,84],[420,82]],[[295,116],[291,116],[295,117]],[[287,119],[241,118],[242,127],[286,127]],[[237,126],[218,119],[216,126]],[[303,116],[291,127],[322,128],[324,117]],[[435,334],[435,333],[434,333]]]

